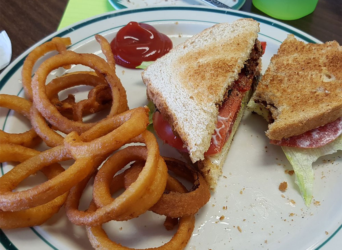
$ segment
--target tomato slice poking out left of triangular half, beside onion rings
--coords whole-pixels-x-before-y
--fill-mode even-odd
[[[173,134],[170,124],[163,119],[159,111],[153,114],[153,127],[160,139],[181,152],[188,152],[187,148],[183,148],[184,142],[179,136]]]

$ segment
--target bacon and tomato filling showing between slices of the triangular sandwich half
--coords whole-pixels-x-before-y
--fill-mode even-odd
[[[249,59],[245,62],[238,79],[229,86],[224,100],[218,104],[218,121],[205,156],[221,152],[223,145],[232,134],[233,125],[241,109],[242,99],[245,97],[246,92],[255,90],[260,78],[258,65],[264,52],[265,43],[262,45],[258,40],[255,40]],[[153,125],[156,133],[164,142],[182,152],[187,152],[182,139],[173,133],[170,124],[163,119],[159,111],[154,113]]]

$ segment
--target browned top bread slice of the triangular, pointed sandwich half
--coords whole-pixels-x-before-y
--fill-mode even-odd
[[[249,58],[259,23],[214,25],[174,47],[142,73],[148,96],[185,142],[192,162],[204,159],[220,104]]]

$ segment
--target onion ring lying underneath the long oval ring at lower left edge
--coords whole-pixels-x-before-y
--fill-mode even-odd
[[[4,143],[0,148],[1,162],[18,161],[23,162],[32,156],[39,154],[39,151],[29,149],[16,144]],[[57,176],[64,171],[64,168],[59,164],[53,164],[41,169],[45,176],[49,179]],[[0,227],[1,228],[18,228],[27,226],[41,225],[63,206],[68,192],[58,196],[50,202],[20,211],[2,211],[0,210]]]

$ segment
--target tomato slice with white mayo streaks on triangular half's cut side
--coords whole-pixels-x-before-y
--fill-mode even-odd
[[[229,95],[229,98],[222,103],[222,106],[219,108],[215,132],[211,137],[210,147],[204,155],[217,154],[222,150],[224,143],[231,134],[231,127],[236,119],[236,114],[240,110],[241,97],[241,93],[237,89],[234,89]]]

